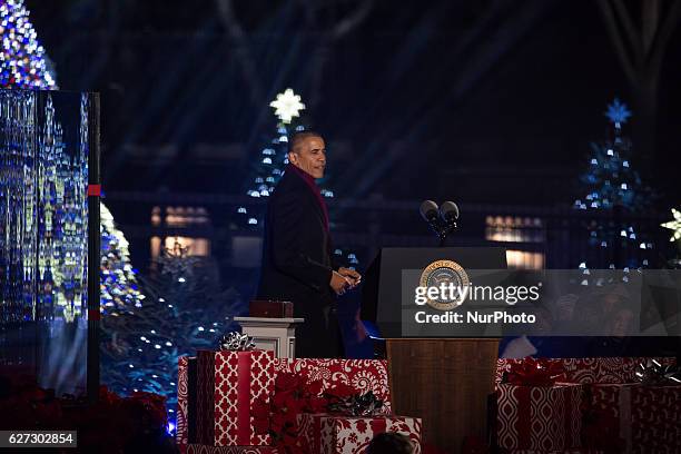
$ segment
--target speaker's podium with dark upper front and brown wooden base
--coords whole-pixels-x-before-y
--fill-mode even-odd
[[[422,418],[424,443],[460,453],[466,436],[490,435],[499,338],[403,335],[403,272],[437,260],[464,269],[506,268],[503,248],[384,248],[366,272],[362,318],[374,322],[386,338],[395,413]]]

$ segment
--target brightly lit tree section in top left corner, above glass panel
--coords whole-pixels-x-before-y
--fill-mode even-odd
[[[22,0],[0,1],[0,85],[3,88],[56,89],[45,49]]]

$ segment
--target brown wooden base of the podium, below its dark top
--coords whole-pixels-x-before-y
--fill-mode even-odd
[[[499,339],[387,339],[395,414],[423,420],[423,442],[460,453],[464,437],[487,437]]]

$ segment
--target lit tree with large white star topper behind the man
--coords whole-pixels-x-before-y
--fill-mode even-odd
[[[254,198],[269,197],[288,164],[289,137],[297,131],[308,129],[302,118],[305,103],[303,103],[300,96],[296,95],[293,89],[287,88],[278,93],[269,106],[274,109],[274,115],[278,119],[276,135],[260,150],[257,160],[253,164],[255,176],[251,178],[246,194]],[[334,197],[334,191],[324,187],[320,188],[320,193],[324,197]],[[248,208],[240,206],[237,208],[237,214],[241,223],[254,228],[263,224],[264,211],[261,209],[258,210],[257,207],[250,208],[249,211]],[[333,223],[333,211],[330,216]],[[349,267],[358,264],[357,256],[353,251],[336,248],[334,254]]]

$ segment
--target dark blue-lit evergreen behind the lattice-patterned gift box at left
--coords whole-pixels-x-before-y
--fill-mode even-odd
[[[219,336],[236,328],[230,318],[245,303],[233,289],[220,292],[214,263],[189,255],[178,241],[156,265],[155,278],[140,278],[144,300],[136,300],[135,307],[108,306],[102,381],[124,395],[146,391],[166,396],[174,424],[179,356],[216,348]],[[128,282],[126,288],[132,287]]]

